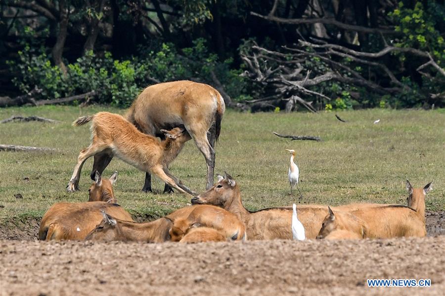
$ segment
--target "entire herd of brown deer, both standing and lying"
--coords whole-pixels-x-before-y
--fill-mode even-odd
[[[218,175],[218,182],[213,185],[214,145],[220,135],[224,110],[221,95],[211,86],[175,81],[147,87],[125,117],[109,112],[79,117],[73,125],[91,122],[92,142],[80,152],[67,190],[79,189],[82,166],[94,156],[89,202],[51,206],[42,219],[39,239],[141,242],[293,239],[291,225],[296,215],[292,207],[250,212],[243,206],[238,183],[230,175]],[[207,191],[200,195],[183,185],[168,169],[190,139],[207,163]],[[150,174],[155,174],[166,183],[164,192],[171,192],[174,187],[188,193],[193,196],[193,205],[155,221],[134,222],[117,204],[112,186],[117,172],[108,180],[100,176],[113,156],[146,173],[143,191],[151,191]],[[298,219],[310,239],[423,237],[425,195],[431,190],[431,183],[412,188],[406,181],[406,188],[407,206],[299,205]]]

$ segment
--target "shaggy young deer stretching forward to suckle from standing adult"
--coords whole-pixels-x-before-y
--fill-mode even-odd
[[[79,179],[84,162],[104,150],[111,150],[125,162],[141,171],[151,172],[161,180],[177,188],[182,193],[195,195],[181,184],[168,170],[168,164],[178,155],[190,135],[182,128],[163,130],[167,139],[159,142],[155,137],[141,133],[136,127],[119,114],[98,112],[94,115],[79,117],[74,126],[91,123],[92,143],[81,150],[73,175],[67,185],[68,192],[79,189]]]

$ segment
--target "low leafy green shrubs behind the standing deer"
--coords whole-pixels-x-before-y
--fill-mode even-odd
[[[8,62],[16,73],[13,83],[22,92],[37,86],[42,89],[41,98],[45,99],[95,90],[96,102],[126,107],[154,81],[192,79],[214,85],[212,73],[234,100],[246,98],[247,82],[239,76],[241,70],[231,69],[231,59],[220,62],[217,55],[208,52],[202,38],[181,52],[172,44],[163,43],[157,50],[123,61],[113,59],[109,52],[98,56],[90,51],[67,64],[66,75],[57,66],[52,66],[45,52],[36,53],[26,45],[18,54],[18,61]]]

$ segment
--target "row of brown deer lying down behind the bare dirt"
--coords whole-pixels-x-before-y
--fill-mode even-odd
[[[95,174],[89,202],[57,203],[45,213],[41,240],[101,240],[139,242],[204,242],[292,239],[292,208],[250,212],[244,208],[239,186],[230,175],[194,197],[193,206],[151,222],[134,222],[116,204],[111,180]],[[300,205],[298,217],[307,238],[361,239],[426,235],[425,195],[431,183],[412,188],[406,181],[408,206],[350,204],[334,208]]]

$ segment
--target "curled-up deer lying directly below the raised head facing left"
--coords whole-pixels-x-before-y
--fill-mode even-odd
[[[232,213],[211,205],[195,206],[186,218],[171,219],[170,229],[172,241],[180,241],[187,233],[196,227],[212,227],[230,240],[246,240],[244,223]]]

